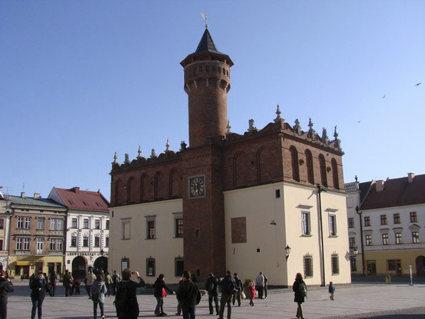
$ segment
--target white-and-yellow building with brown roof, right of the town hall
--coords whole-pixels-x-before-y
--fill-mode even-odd
[[[348,213],[350,245],[358,247],[356,273],[362,272],[361,237],[357,235],[361,234],[366,275],[402,276],[409,274],[412,267],[414,275],[424,276],[425,174],[409,173],[407,177],[368,183],[359,204],[362,233],[358,214],[347,208],[351,212]],[[354,228],[350,228],[351,217],[355,218]]]

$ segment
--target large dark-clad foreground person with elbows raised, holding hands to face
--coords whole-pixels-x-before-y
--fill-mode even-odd
[[[116,272],[115,272],[116,274]],[[140,277],[138,272],[133,272],[137,276],[139,282],[131,279],[131,270],[126,268],[123,270],[123,281],[118,281],[115,289],[115,310],[118,319],[136,319],[139,315],[139,304],[137,303],[136,289],[145,287],[145,281]]]

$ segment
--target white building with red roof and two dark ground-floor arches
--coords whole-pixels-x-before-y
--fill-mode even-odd
[[[89,268],[108,269],[109,202],[100,191],[81,191],[79,187],[53,187],[48,198],[61,203],[67,211],[65,245],[66,269],[80,278]]]

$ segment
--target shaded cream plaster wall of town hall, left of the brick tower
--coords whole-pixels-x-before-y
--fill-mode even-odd
[[[153,283],[163,273],[167,283],[177,283],[174,258],[183,257],[183,238],[174,237],[175,213],[183,212],[183,201],[157,201],[110,208],[109,271],[121,271],[121,259],[130,259],[130,268]],[[112,216],[113,215],[113,216]],[[156,216],[156,239],[146,239],[146,216]],[[130,218],[130,239],[122,239],[123,219]],[[155,259],[156,276],[146,276],[146,259]]]

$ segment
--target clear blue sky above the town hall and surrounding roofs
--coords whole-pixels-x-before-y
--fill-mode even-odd
[[[2,0],[0,185],[109,198],[115,151],[179,150],[179,62],[201,11],[234,61],[232,131],[263,128],[279,103],[305,130],[310,116],[319,132],[338,125],[346,182],[425,173],[425,1]]]

